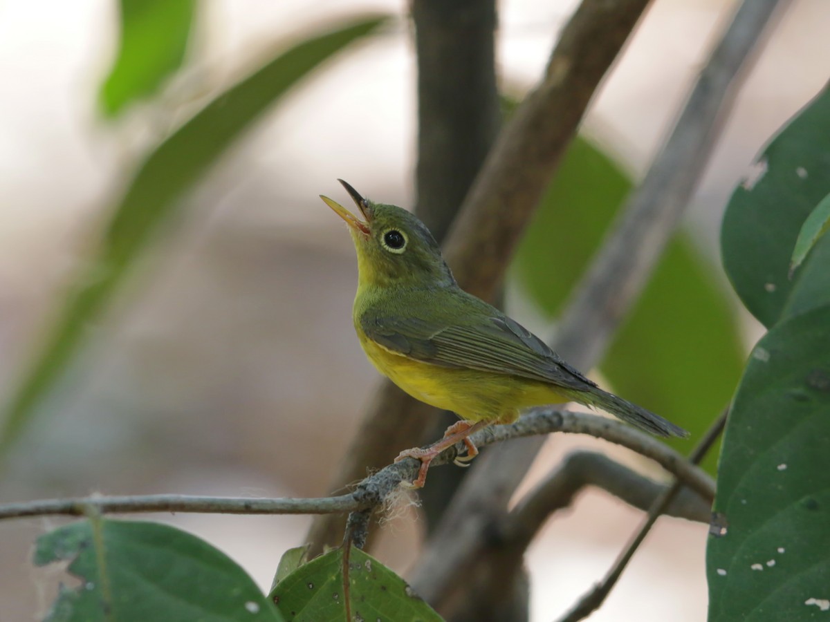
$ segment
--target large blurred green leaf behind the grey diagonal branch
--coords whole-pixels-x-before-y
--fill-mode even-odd
[[[520,245],[514,274],[551,318],[603,241],[632,182],[583,138],[565,155]],[[714,269],[675,237],[615,337],[601,371],[627,399],[698,435],[729,401],[743,353]],[[687,440],[673,440],[687,449]],[[706,462],[714,472],[714,455]]]

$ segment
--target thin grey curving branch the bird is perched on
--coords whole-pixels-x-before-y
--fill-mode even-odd
[[[702,497],[711,500],[715,483],[701,469],[689,464],[681,454],[662,445],[651,436],[616,420],[582,412],[556,409],[530,411],[511,425],[494,425],[472,435],[479,447],[530,435],[552,432],[586,434],[623,445],[647,458],[653,459],[666,471],[676,475],[684,484]],[[451,447],[439,455],[433,465],[452,463],[463,445]],[[0,505],[0,520],[63,514],[84,516],[90,508],[105,513],[232,513],[232,514],[312,514],[347,513],[376,508],[403,480],[411,481],[417,475],[420,462],[404,459],[361,481],[352,493],[330,498],[222,498],[192,497],[188,495],[159,494],[147,496],[105,497],[93,495],[84,498],[46,499]]]

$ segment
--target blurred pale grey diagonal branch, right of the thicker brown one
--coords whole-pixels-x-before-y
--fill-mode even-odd
[[[623,221],[604,245],[606,250],[569,304],[554,349],[577,367],[589,368],[597,362],[623,313],[642,289],[646,275],[656,265],[731,107],[741,68],[761,38],[775,3],[764,0],[742,5],[652,165],[654,173],[647,174],[632,197]],[[445,615],[443,599],[452,586],[452,577],[473,564],[492,567],[482,551],[484,530],[491,524],[489,517],[506,507],[541,443],[533,439],[514,445],[515,449],[499,448],[485,456],[477,472],[466,479],[428,543],[413,572],[412,585]],[[459,533],[456,526],[461,522],[465,528]]]

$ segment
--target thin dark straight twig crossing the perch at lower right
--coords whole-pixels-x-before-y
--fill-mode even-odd
[[[701,442],[691,452],[689,461],[692,464],[700,464],[701,460],[704,456],[706,456],[706,453],[712,445],[715,445],[715,440],[718,439],[718,436],[720,436],[720,433],[724,429],[724,425],[726,425],[726,417],[728,413],[728,409],[721,413],[717,420],[715,420],[715,423],[713,423],[709,430],[706,431],[706,435],[703,436]],[[608,597],[608,594],[613,589],[613,586],[617,584],[618,579],[623,574],[628,562],[631,561],[632,556],[634,556],[634,552],[636,552],[637,548],[640,547],[642,541],[646,539],[648,532],[651,530],[654,523],[657,522],[657,518],[662,513],[665,513],[666,508],[668,508],[671,503],[671,500],[675,498],[676,494],[682,487],[683,484],[681,484],[680,481],[675,481],[671,484],[671,487],[667,488],[666,491],[655,500],[652,504],[652,508],[648,511],[648,518],[646,519],[646,522],[643,523],[642,527],[640,527],[640,531],[637,532],[637,535],[631,542],[628,543],[625,551],[623,551],[623,553],[617,558],[617,561],[614,562],[611,571],[609,571],[608,575],[605,576],[603,582],[595,586],[593,590],[588,592],[588,594],[583,595],[579,602],[574,606],[574,609],[570,610],[567,615],[564,615],[564,617],[560,619],[560,622],[577,622],[577,620],[583,620],[583,618],[587,618],[588,615],[591,615],[593,611],[597,610],[599,606],[603,604],[603,601]]]

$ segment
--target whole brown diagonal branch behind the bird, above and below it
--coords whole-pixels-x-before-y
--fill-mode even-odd
[[[501,131],[452,226],[445,257],[462,288],[491,298],[600,80],[647,4],[583,0],[564,28],[544,80]],[[419,442],[433,412],[384,382],[330,490]],[[342,522],[318,518],[308,542],[320,551],[338,544],[341,532]]]

